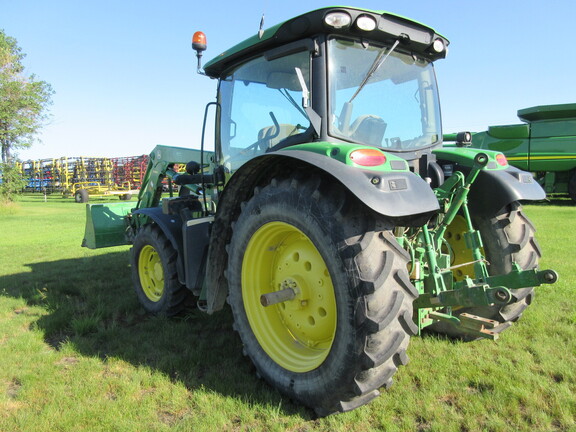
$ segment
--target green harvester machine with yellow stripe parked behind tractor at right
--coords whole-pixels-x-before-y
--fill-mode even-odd
[[[548,195],[576,202],[576,104],[518,110],[523,124],[490,126],[472,146],[502,152],[510,164],[534,173]]]

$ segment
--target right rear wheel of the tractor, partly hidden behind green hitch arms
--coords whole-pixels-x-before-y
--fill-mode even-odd
[[[522,212],[522,206],[518,202],[513,202],[504,207],[490,218],[472,216],[472,222],[476,229],[480,231],[485,256],[489,263],[488,272],[491,275],[511,272],[514,261],[524,270],[538,267],[541,252],[534,237],[536,230],[532,222]],[[456,255],[462,248],[458,246],[455,239],[463,239],[464,229],[465,224],[459,223],[457,218],[455,223],[447,230],[448,242]],[[455,259],[457,262],[471,260],[467,257],[458,256]],[[510,327],[513,322],[520,319],[524,310],[534,299],[534,288],[519,288],[511,291],[516,300],[514,303],[506,306],[461,308],[453,310],[453,314],[459,316],[461,313],[466,312],[498,321],[500,325],[496,326],[492,331],[501,333]],[[475,336],[467,335],[456,327],[441,322],[433,324],[431,329],[453,337],[467,340],[477,339]]]

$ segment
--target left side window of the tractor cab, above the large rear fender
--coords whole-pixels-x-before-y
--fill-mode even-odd
[[[274,60],[258,57],[220,82],[220,137],[231,171],[310,126],[296,68],[310,88],[308,51]]]

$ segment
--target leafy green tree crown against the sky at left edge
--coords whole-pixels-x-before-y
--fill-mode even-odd
[[[16,39],[0,30],[0,146],[2,162],[11,161],[13,152],[28,148],[49,117],[54,91],[50,84],[26,76],[25,54]]]

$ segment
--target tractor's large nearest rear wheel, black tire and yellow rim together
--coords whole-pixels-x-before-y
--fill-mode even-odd
[[[318,415],[364,405],[391,385],[417,332],[408,254],[388,222],[334,182],[273,180],[254,192],[226,273],[245,354]],[[287,288],[294,298],[260,303]]]

